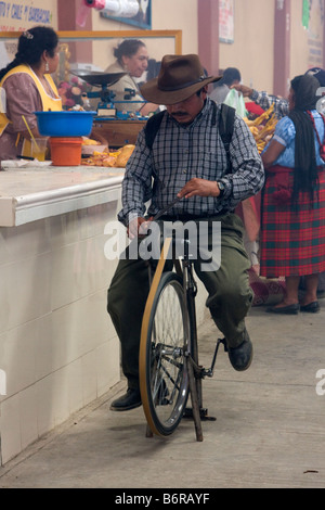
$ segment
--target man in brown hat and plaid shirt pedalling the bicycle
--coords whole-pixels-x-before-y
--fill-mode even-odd
[[[145,100],[165,104],[167,111],[159,114],[161,122],[152,146],[147,145],[145,129],[139,133],[126,169],[118,218],[128,228],[129,238],[136,239],[142,224],[179,197],[160,219],[221,224],[221,267],[209,271],[198,264],[194,267],[208,291],[207,306],[225,336],[232,366],[246,370],[252,358],[245,327],[252,291],[243,224],[234,209],[261,190],[264,170],[256,142],[237,115],[229,166],[219,132],[220,106],[207,97],[208,85],[218,79],[205,75],[197,55],[166,55],[158,78],[141,88]],[[108,289],[107,310],[121,342],[128,391],[113,401],[112,410],[141,405],[139,344],[147,294],[145,260],[121,257]]]

